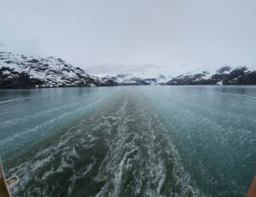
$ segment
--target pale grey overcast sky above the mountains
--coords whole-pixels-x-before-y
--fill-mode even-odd
[[[256,65],[255,0],[0,0],[0,49],[92,74]]]

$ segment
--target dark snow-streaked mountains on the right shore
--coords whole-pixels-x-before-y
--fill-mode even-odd
[[[256,84],[256,71],[247,67],[221,67],[213,74],[196,70],[172,78],[166,84]]]

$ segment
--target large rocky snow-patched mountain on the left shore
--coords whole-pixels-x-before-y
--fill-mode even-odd
[[[53,56],[15,55],[0,52],[0,88],[113,85],[90,76],[79,67]]]

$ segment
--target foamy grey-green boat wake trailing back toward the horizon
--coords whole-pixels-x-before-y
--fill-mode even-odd
[[[137,90],[116,93],[6,162],[20,177],[14,196],[203,196]]]

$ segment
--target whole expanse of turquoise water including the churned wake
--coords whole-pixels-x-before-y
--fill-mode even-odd
[[[14,196],[245,196],[255,86],[0,90]]]

